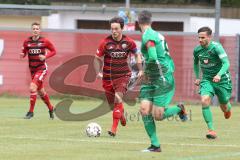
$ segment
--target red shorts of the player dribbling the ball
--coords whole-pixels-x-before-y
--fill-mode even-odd
[[[109,104],[114,104],[115,92],[125,94],[128,90],[130,76],[123,76],[114,80],[103,80],[103,88]]]

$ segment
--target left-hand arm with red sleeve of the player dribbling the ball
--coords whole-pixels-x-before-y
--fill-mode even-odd
[[[93,61],[93,66],[94,66],[97,78],[103,77],[103,74],[102,74],[103,55],[104,55],[104,43],[102,41],[100,46],[97,49],[97,53],[95,54],[95,58]]]

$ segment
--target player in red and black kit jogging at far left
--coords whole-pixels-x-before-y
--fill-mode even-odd
[[[20,58],[28,56],[29,69],[32,77],[30,83],[30,109],[25,119],[31,119],[34,115],[33,111],[37,94],[47,105],[50,118],[54,119],[53,105],[50,103],[49,96],[44,89],[43,81],[47,75],[46,59],[54,56],[56,50],[53,44],[48,39],[42,37],[40,33],[40,24],[34,22],[32,24],[32,36],[24,41],[22,53],[20,53]]]

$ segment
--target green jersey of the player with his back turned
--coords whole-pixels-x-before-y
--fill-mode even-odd
[[[154,42],[154,52],[150,53],[147,43],[149,41]],[[142,35],[141,52],[145,59],[145,73],[150,77],[159,73],[159,68],[156,66],[156,61],[161,66],[162,74],[173,73],[174,63],[169,55],[169,50],[165,38],[152,28],[147,28]]]

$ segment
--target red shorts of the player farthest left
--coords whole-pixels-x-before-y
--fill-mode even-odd
[[[31,74],[32,83],[38,86],[37,90],[43,88],[43,81],[47,76],[47,70],[40,70]]]

